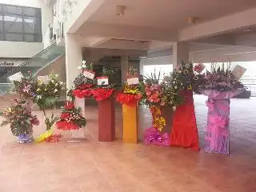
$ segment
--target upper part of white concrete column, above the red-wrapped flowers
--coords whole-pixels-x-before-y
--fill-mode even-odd
[[[82,46],[78,43],[73,34],[66,34],[66,88],[73,86],[74,78],[78,76],[80,70],[78,66],[82,65]]]

